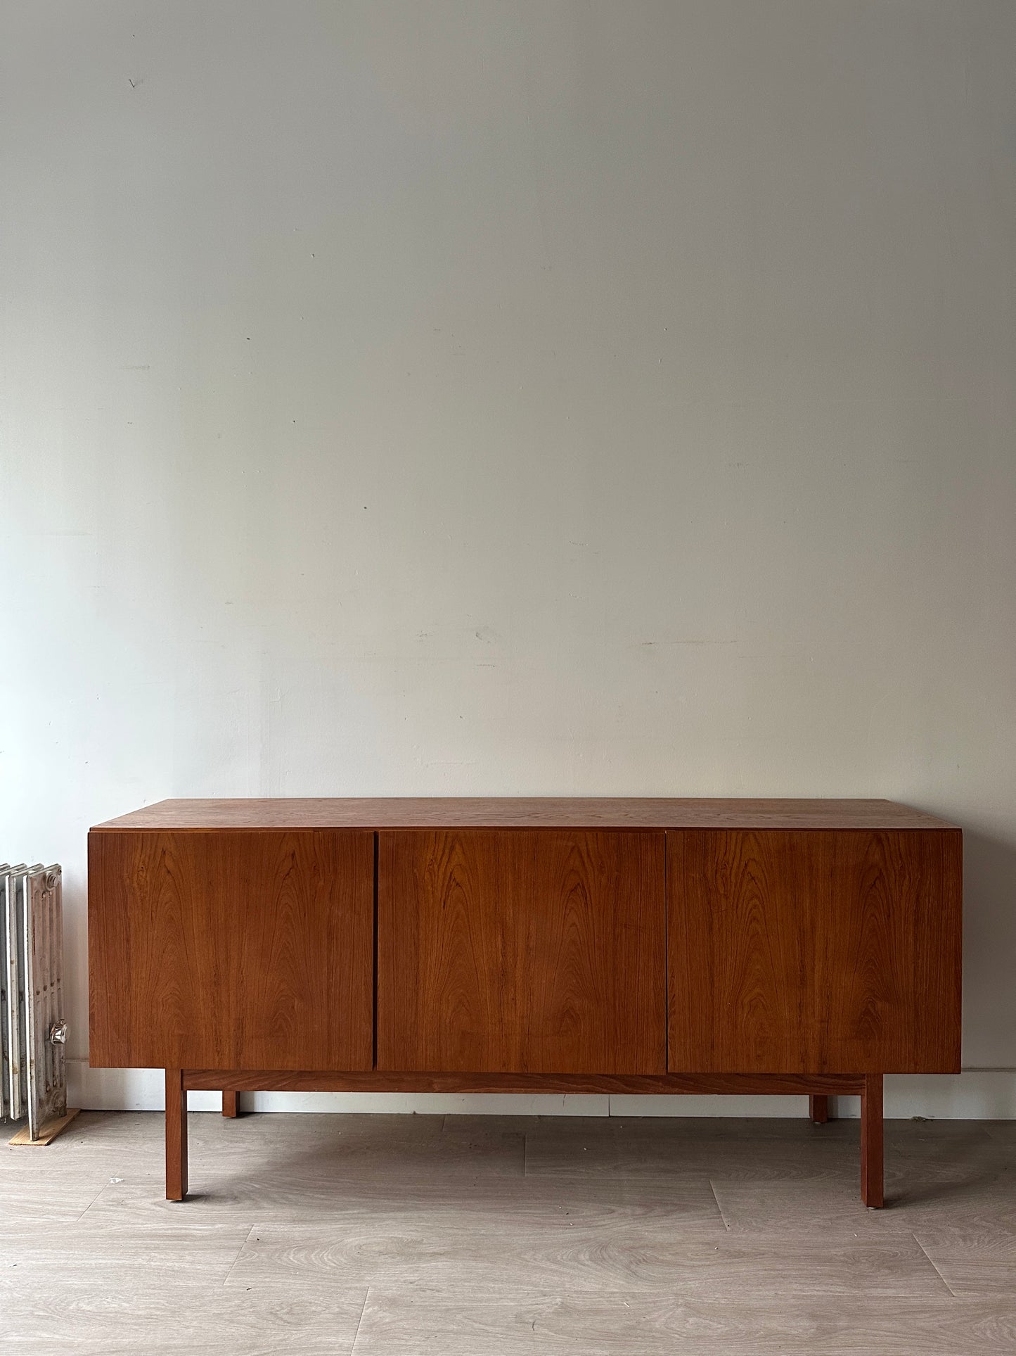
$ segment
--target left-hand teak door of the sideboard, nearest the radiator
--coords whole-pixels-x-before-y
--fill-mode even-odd
[[[91,1062],[373,1064],[371,833],[93,833]]]

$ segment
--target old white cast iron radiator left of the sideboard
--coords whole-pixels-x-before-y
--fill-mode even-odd
[[[66,1115],[60,866],[0,866],[0,1121]]]

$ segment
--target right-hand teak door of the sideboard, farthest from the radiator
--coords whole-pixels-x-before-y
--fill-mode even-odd
[[[958,830],[673,831],[673,1073],[959,1070]]]

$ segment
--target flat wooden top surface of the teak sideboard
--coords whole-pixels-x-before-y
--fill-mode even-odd
[[[893,800],[375,797],[160,800],[93,831],[297,829],[955,829]]]

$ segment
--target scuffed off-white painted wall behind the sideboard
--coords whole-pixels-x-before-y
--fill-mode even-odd
[[[0,12],[0,852],[72,1055],[140,804],[832,795],[966,829],[1012,1070],[1016,7]]]

